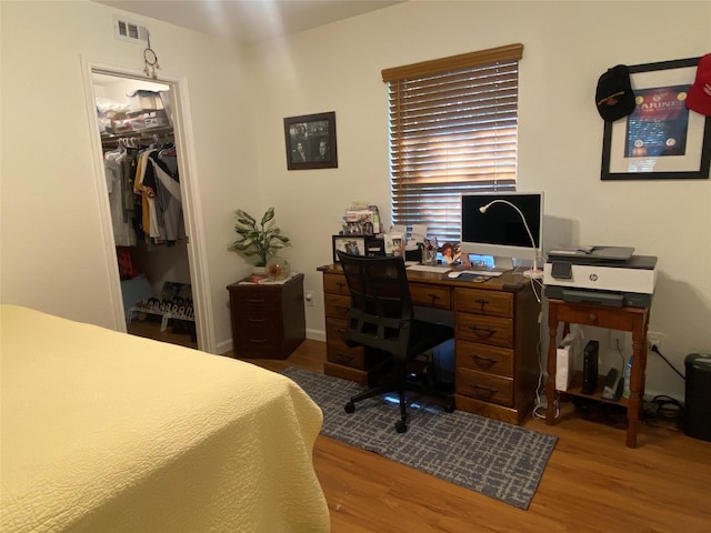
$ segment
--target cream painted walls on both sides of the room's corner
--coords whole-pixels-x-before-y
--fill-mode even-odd
[[[117,324],[81,59],[143,67],[141,47],[113,38],[114,12],[87,1],[0,2],[1,301],[110,328]],[[331,260],[343,210],[365,199],[389,220],[380,71],[522,42],[520,189],[544,190],[548,215],[570,223],[579,242],[658,255],[650,330],[665,334],[662,351],[679,369],[687,353],[711,350],[711,182],[601,182],[602,121],[593,104],[597,79],[613,64],[711,51],[709,2],[411,1],[249,51],[129,18],[149,26],[163,72],[189,88],[219,345],[230,339],[224,288],[249,271],[226,250],[233,210],[276,207],[293,241],[284,255],[314,291],[309,336],[322,339],[316,269]],[[337,113],[339,168],[287,171],[282,119],[323,111]],[[610,364],[617,355],[607,356]],[[655,355],[647,383],[650,391],[683,390]]]

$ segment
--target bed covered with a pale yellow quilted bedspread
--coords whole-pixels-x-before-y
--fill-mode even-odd
[[[329,531],[291,380],[17,305],[0,325],[0,531]]]

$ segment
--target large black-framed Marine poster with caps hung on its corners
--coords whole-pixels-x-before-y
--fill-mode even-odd
[[[711,118],[684,103],[699,59],[630,67],[637,105],[604,123],[602,180],[709,178]]]

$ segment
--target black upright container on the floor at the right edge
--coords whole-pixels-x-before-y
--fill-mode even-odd
[[[711,441],[711,354],[690,353],[684,359],[684,433]]]

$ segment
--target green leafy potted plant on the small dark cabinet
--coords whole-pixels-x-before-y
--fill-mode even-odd
[[[234,213],[234,231],[239,237],[230,245],[230,250],[248,258],[254,257],[254,265],[260,268],[260,272],[266,272],[269,258],[282,248],[291,245],[289,238],[282,235],[281,230],[274,225],[274,208],[267,210],[259,224],[247,211],[238,209]]]

